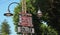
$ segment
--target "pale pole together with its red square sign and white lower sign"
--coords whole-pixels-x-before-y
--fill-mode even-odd
[[[32,35],[34,33],[34,28],[32,24],[32,14],[26,12],[26,0],[22,0],[22,12],[19,14],[19,32],[22,35]]]

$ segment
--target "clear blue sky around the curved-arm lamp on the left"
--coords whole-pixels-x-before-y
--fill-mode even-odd
[[[7,12],[9,4],[12,2],[18,2],[19,3],[20,0],[0,0],[0,26],[1,26],[1,23],[6,19],[6,21],[8,21],[8,24],[10,25],[11,35],[16,35],[15,26],[13,24],[12,17],[4,16],[4,13]],[[9,9],[10,9],[11,13],[13,13],[13,10],[14,10],[16,5],[17,4],[12,4],[10,6]]]

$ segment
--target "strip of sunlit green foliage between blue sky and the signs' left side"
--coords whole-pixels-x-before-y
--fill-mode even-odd
[[[16,6],[14,9],[14,15],[13,15],[13,21],[14,21],[14,25],[15,25],[15,31],[17,32],[17,26],[18,26],[18,22],[19,22],[19,13],[21,12],[21,3],[20,5]]]

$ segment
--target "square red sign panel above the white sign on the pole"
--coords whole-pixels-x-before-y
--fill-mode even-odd
[[[21,25],[22,26],[32,26],[32,17],[29,16],[21,16]]]

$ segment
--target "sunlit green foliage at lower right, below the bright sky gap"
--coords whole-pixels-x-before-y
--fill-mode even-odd
[[[58,35],[57,31],[53,28],[51,28],[50,26],[46,26],[44,24],[42,24],[40,26],[41,30],[42,30],[42,35]]]

